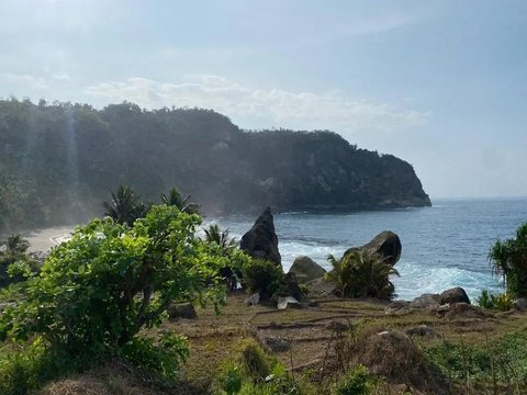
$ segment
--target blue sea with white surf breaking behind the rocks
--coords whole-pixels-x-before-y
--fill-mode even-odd
[[[255,216],[205,218],[238,239]],[[284,270],[305,255],[328,268],[327,255],[340,257],[351,246],[371,240],[382,230],[395,232],[403,251],[392,279],[397,298],[438,293],[462,286],[474,300],[482,290],[503,292],[503,281],[492,275],[490,247],[498,238],[514,237],[527,222],[526,199],[435,200],[433,207],[357,213],[279,213],[274,227]]]

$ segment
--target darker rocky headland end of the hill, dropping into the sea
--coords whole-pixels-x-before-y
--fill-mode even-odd
[[[357,149],[330,132],[246,136],[244,160],[261,199],[278,210],[375,210],[430,205],[407,162]]]

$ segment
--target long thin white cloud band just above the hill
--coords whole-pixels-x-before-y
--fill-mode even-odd
[[[251,89],[208,75],[189,75],[179,83],[135,77],[86,87],[83,92],[102,104],[127,100],[149,109],[171,105],[210,108],[232,117],[240,126],[251,128],[395,131],[422,125],[428,116],[428,113],[397,110],[372,99],[345,98],[338,91]]]

